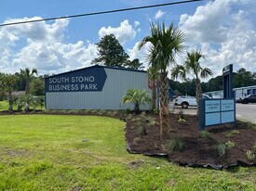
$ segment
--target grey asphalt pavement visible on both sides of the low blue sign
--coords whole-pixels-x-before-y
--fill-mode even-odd
[[[175,107],[174,112],[179,113],[181,107]],[[170,105],[170,111],[173,110],[173,106]],[[183,109],[184,114],[195,115],[196,107],[189,107]],[[246,120],[256,123],[256,104],[236,104],[236,119]]]

